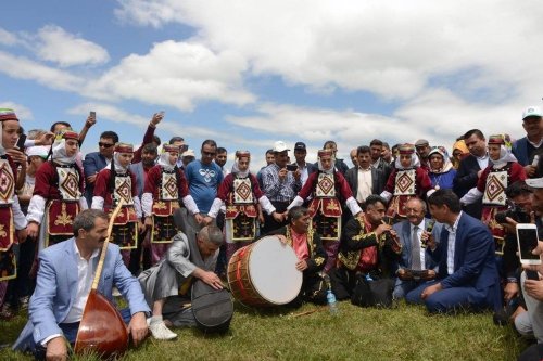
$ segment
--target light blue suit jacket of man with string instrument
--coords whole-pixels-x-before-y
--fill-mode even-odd
[[[31,337],[39,344],[51,335],[62,335],[59,323],[66,319],[77,293],[77,254],[74,243],[75,238],[72,237],[39,254],[36,289],[28,308],[29,320],[13,349],[27,349],[31,345]],[[98,260],[99,257],[93,259],[96,265]],[[125,267],[118,246],[110,243],[98,292],[113,300],[113,285],[128,300],[130,314],[150,313],[138,280]]]

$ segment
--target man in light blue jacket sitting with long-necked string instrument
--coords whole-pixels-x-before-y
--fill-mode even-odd
[[[66,340],[75,343],[100,249],[108,235],[108,219],[101,210],[84,210],[74,220],[76,237],[40,253],[36,289],[28,308],[29,321],[13,349],[30,350],[37,356],[45,351],[48,358],[66,357]],[[146,314],[150,309],[138,280],[125,267],[118,246],[110,244],[98,292],[112,300],[114,285],[128,300],[129,314],[124,312],[124,319],[131,317],[128,331],[138,344],[147,335]]]

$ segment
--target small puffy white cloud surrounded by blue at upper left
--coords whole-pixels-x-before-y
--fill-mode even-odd
[[[36,53],[41,60],[62,67],[103,64],[110,60],[101,46],[70,34],[56,25],[46,25],[37,34]]]

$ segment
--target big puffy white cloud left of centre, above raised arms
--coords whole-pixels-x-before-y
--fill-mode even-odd
[[[244,105],[254,95],[242,87],[247,63],[233,51],[167,40],[146,55],[131,54],[90,81],[85,93],[102,100],[134,99],[191,111],[198,101]]]

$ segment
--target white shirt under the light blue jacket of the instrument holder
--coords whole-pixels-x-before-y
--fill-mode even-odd
[[[93,259],[97,258],[99,254],[99,249],[96,249],[89,260],[86,260],[80,256],[79,248],[77,248],[75,242],[74,248],[77,257],[77,293],[75,295],[74,304],[72,305],[72,308],[70,309],[70,312],[63,323],[81,321],[85,304],[87,304],[87,297],[89,297],[90,287],[92,286],[92,281],[94,280],[96,265]]]

